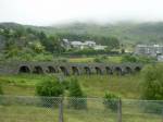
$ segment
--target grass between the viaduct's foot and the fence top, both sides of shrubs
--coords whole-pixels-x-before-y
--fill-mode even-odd
[[[34,96],[36,84],[49,75],[0,75],[0,84],[7,95]],[[74,76],[65,77],[71,78]],[[122,98],[139,98],[141,76],[136,75],[82,75],[76,76],[88,97],[103,97],[106,90]]]

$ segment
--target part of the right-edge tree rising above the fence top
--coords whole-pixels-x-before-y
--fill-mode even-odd
[[[148,65],[142,70],[142,98],[163,100],[163,64]]]

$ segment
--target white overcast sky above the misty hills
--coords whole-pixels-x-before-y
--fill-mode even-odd
[[[52,25],[68,22],[163,21],[163,0],[0,0],[0,22]]]

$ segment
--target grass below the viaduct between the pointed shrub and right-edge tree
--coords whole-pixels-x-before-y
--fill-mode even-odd
[[[140,97],[141,77],[139,75],[92,75],[77,78],[89,97],[103,97],[106,90],[127,99]]]

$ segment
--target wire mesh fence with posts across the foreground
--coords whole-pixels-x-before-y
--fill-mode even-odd
[[[0,122],[163,122],[163,101],[0,96]]]

